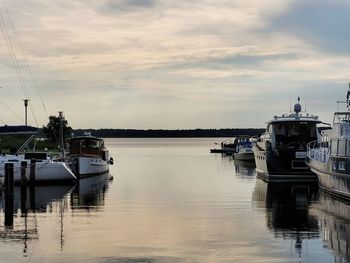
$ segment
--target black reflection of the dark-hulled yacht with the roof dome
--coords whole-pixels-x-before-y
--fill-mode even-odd
[[[304,241],[319,238],[317,217],[309,213],[317,200],[318,186],[309,184],[267,183],[256,180],[253,203],[266,211],[267,227],[276,238],[294,240],[294,248],[301,257]]]

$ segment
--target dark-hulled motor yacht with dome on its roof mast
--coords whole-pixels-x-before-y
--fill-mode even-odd
[[[316,181],[305,163],[306,144],[318,140],[317,116],[301,113],[300,98],[294,113],[274,116],[253,144],[257,176],[271,182]]]

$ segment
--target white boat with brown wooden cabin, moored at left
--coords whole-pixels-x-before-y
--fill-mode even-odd
[[[78,179],[105,174],[113,158],[101,138],[85,133],[69,139],[68,163]]]

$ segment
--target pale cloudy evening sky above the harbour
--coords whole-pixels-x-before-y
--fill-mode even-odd
[[[0,0],[0,11],[3,124],[24,122],[26,97],[33,126],[63,111],[76,129],[260,128],[297,96],[331,122],[350,81],[348,0]]]

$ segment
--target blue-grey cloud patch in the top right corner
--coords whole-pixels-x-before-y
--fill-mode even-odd
[[[267,31],[289,32],[323,52],[350,54],[349,10],[344,0],[294,1],[271,17]]]

